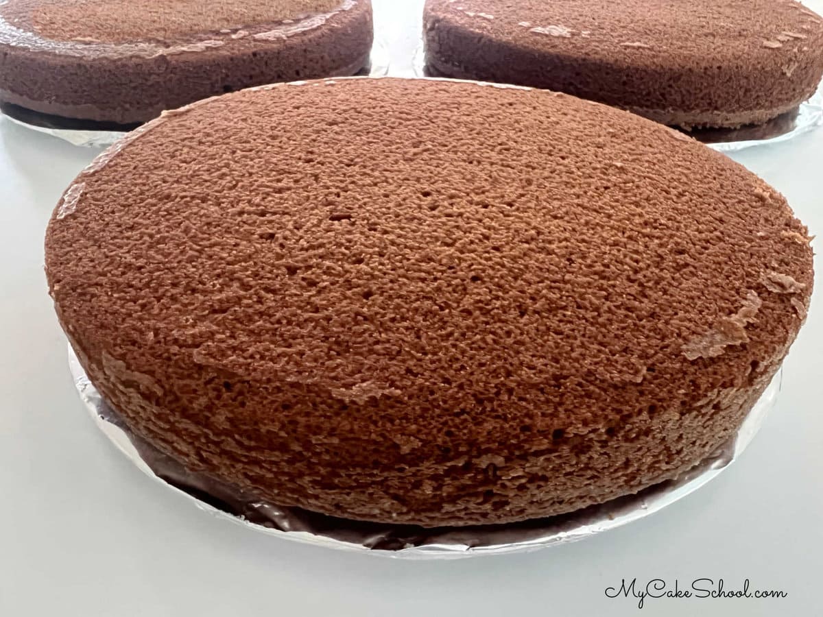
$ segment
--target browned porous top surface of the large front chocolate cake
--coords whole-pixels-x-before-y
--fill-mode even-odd
[[[401,448],[458,420],[466,443],[574,433],[641,389],[719,383],[746,345],[783,354],[812,285],[783,197],[688,137],[398,79],[166,115],[67,191],[46,266],[70,336],[150,390],[169,366],[301,384],[351,404],[328,435],[368,439],[362,421]]]

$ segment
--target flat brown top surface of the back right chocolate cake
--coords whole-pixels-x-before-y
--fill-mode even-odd
[[[823,19],[788,0],[428,0],[428,11],[512,44],[607,63],[704,66],[819,53]]]

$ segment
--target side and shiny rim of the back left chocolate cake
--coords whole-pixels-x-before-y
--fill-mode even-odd
[[[119,54],[112,44],[110,53],[86,55],[81,47],[63,53],[59,45],[32,51],[0,42],[0,100],[66,118],[146,122],[249,86],[353,75],[368,64],[373,39],[371,4],[360,0],[294,35],[204,34],[151,53]]]

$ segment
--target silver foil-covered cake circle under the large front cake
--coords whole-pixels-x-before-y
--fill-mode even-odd
[[[264,503],[214,480],[191,474],[179,463],[129,433],[89,381],[69,347],[77,392],[97,427],[146,476],[188,499],[203,512],[250,531],[330,549],[367,552],[397,559],[460,559],[524,553],[583,540],[622,527],[683,499],[717,477],[751,443],[780,391],[782,371],[752,407],[727,443],[677,480],[574,513],[507,525],[438,527],[351,521]]]

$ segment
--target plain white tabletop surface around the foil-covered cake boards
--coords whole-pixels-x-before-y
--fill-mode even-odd
[[[396,4],[413,18],[417,2]],[[823,12],[823,0],[807,4]],[[406,37],[402,49],[412,47]],[[63,188],[95,153],[0,121],[0,617],[823,615],[823,285],[754,443],[672,508],[535,554],[404,562],[338,553],[199,512],[142,476],[86,415],[42,244]],[[823,234],[823,130],[734,158]],[[648,599],[639,611],[636,600],[604,595],[635,577],[681,587],[724,578],[727,589],[749,578],[788,597]]]

